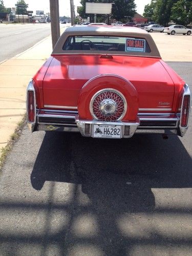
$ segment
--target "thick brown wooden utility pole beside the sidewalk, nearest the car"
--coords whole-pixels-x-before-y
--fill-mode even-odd
[[[50,0],[50,18],[51,18],[52,46],[54,48],[60,36],[59,0]]]

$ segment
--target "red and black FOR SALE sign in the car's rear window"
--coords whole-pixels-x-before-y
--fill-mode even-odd
[[[145,39],[126,38],[126,52],[145,52]]]

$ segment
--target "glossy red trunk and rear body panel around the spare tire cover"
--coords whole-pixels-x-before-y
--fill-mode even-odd
[[[166,108],[176,111],[184,81],[160,58],[113,56],[106,59],[100,56],[55,55],[50,58],[33,78],[40,94],[38,106],[77,106],[80,91],[89,79],[100,74],[116,74],[133,84],[140,109],[156,109],[160,107],[159,102],[168,102]]]

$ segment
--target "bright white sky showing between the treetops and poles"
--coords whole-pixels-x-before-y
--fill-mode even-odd
[[[49,0],[25,0],[25,2],[29,5],[28,11],[33,11],[33,15],[35,15],[36,10],[44,11],[44,13],[49,12]],[[5,7],[15,7],[16,3],[17,0],[4,0]],[[151,0],[135,0],[137,12],[142,15],[145,5],[150,3]],[[74,6],[75,8],[80,6],[80,1],[74,0]],[[70,0],[59,0],[59,15],[70,16]]]

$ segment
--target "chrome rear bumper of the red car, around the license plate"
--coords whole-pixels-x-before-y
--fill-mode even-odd
[[[180,135],[180,113],[149,114],[138,113],[136,122],[101,122],[80,120],[77,111],[37,110],[34,131],[80,132],[82,136],[93,137],[93,124],[122,125],[122,138],[134,134]]]

